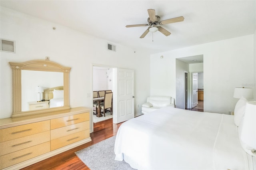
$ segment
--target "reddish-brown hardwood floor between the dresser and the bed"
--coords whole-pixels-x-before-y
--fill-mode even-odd
[[[94,132],[90,133],[91,142],[82,144],[66,152],[42,160],[22,170],[89,170],[89,168],[76,156],[74,152],[98,143],[102,140],[116,135],[122,123],[113,124],[113,119],[94,123]]]

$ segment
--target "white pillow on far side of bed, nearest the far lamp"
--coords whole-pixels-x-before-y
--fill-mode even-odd
[[[241,99],[239,99],[239,101],[236,103],[235,110],[234,110],[234,123],[238,127],[242,120],[242,117],[244,116],[246,103],[247,103],[247,100],[244,97],[241,97]]]

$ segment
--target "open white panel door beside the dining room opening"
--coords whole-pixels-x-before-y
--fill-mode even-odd
[[[134,118],[134,70],[117,69],[116,122]]]

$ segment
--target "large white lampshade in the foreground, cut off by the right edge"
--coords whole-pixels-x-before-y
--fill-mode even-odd
[[[256,149],[256,101],[246,103],[241,140]]]

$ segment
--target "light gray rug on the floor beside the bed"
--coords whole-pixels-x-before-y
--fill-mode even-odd
[[[114,160],[114,144],[116,136],[88,146],[75,154],[91,170],[134,170],[128,163]]]

